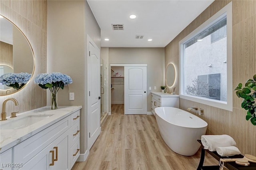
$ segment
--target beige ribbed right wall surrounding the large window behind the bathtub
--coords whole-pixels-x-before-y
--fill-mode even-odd
[[[230,1],[214,1],[200,16],[174,38],[165,47],[165,66],[169,62],[173,62],[179,68],[179,41]],[[228,88],[234,89],[239,82],[244,83],[248,78],[252,78],[256,74],[256,67],[253,64],[250,65],[250,63],[256,63],[256,1],[234,0],[232,3],[233,82],[229,84]],[[178,88],[178,85],[177,81],[175,86]],[[256,155],[256,126],[253,126],[250,121],[246,121],[246,111],[241,108],[241,102],[242,99],[237,98],[235,92],[233,92],[233,112],[185,99],[180,99],[180,108],[183,110],[186,110],[188,107],[203,108],[204,115],[200,117],[208,123],[207,134],[228,134],[237,142],[242,154]]]

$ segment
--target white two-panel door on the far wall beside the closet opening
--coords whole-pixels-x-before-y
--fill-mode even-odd
[[[147,114],[147,67],[124,67],[124,114]]]

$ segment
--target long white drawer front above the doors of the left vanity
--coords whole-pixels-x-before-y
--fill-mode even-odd
[[[70,116],[68,116],[14,146],[13,162],[25,164],[70,127]]]

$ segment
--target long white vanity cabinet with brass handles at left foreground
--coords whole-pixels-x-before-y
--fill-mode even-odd
[[[18,144],[2,152],[4,167],[0,170],[70,170],[80,155],[80,109],[69,114],[60,112],[62,118],[33,135],[30,132],[26,140],[18,138]]]

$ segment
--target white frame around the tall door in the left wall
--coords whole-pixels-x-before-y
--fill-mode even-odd
[[[87,78],[86,78],[86,81],[87,81],[87,93],[86,93],[86,98],[87,98],[87,108],[86,108],[86,111],[87,111],[87,150],[89,151],[88,152],[88,154],[90,153],[90,148],[89,148],[89,125],[91,124],[91,122],[90,122],[90,116],[89,116],[89,112],[90,112],[90,107],[89,107],[89,81],[88,81],[88,78],[89,78],[89,74],[90,74],[90,72],[89,72],[89,70],[88,70],[88,58],[89,58],[89,46],[90,46],[90,43],[95,47],[95,48],[97,48],[97,50],[99,50],[99,52],[100,52],[100,49],[98,48],[98,46],[94,43],[94,41],[92,40],[92,38],[90,38],[90,36],[87,34],[87,55],[86,55],[86,61],[87,61],[87,64],[86,64],[86,66],[87,66]],[[99,75],[100,76],[100,75]],[[100,94],[100,89],[98,89],[99,90],[99,94]],[[100,117],[100,116],[99,116]],[[100,120],[99,120],[100,121]],[[100,126],[100,131],[101,131],[101,126]]]

